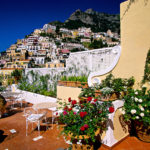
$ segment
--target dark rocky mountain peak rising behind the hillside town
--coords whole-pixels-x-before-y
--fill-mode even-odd
[[[60,25],[60,23],[59,23]],[[99,13],[93,9],[73,12],[61,26],[68,29],[79,27],[91,27],[93,32],[106,32],[110,29],[113,32],[120,32],[120,16],[117,14]]]

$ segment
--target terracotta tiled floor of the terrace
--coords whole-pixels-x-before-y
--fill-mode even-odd
[[[17,110],[16,110],[17,111]],[[35,126],[34,126],[35,127]],[[43,139],[34,142],[32,139],[38,136],[38,132],[32,131],[30,125],[29,135],[25,135],[25,118],[23,112],[18,111],[16,114],[0,119],[0,130],[4,131],[3,140],[0,137],[0,150],[57,150],[58,148],[67,148],[62,136],[58,137],[59,130],[57,126],[54,129],[49,128],[41,131]],[[17,133],[11,134],[10,129],[15,129]],[[101,146],[99,150],[107,150]],[[150,143],[144,143],[136,137],[128,137],[120,144],[116,145],[113,150],[150,150]]]

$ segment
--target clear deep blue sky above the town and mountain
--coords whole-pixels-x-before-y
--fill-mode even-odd
[[[0,0],[0,51],[17,39],[42,28],[44,24],[64,22],[77,9],[92,8],[98,12],[120,13],[125,0]]]

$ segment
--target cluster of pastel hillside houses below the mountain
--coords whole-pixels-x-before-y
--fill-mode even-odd
[[[1,53],[0,65],[1,68],[11,69],[59,68],[65,66],[71,52],[112,47],[119,42],[119,35],[111,30],[93,33],[86,27],[69,30],[45,24],[42,29],[35,29]]]

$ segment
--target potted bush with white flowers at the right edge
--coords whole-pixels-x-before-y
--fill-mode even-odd
[[[128,90],[124,97],[124,117],[133,120],[140,140],[150,142],[150,90]]]

